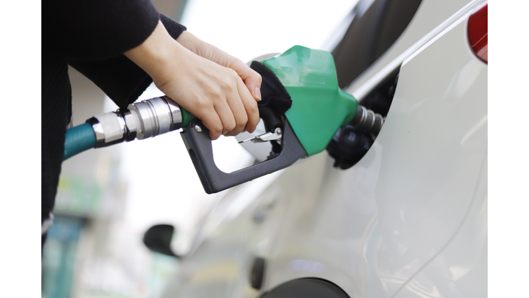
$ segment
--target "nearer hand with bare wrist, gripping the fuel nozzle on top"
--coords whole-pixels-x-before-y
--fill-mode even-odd
[[[256,129],[257,102],[240,74],[187,50],[169,36],[161,22],[149,38],[125,55],[143,68],[165,95],[202,120],[211,139]],[[255,76],[250,77],[245,79],[255,86]],[[258,83],[260,87],[260,77]]]

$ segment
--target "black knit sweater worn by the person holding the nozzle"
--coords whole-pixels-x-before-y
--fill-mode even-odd
[[[126,108],[152,79],[123,52],[143,43],[160,19],[174,39],[185,30],[150,0],[42,1],[42,221],[54,206],[72,114],[68,64]]]

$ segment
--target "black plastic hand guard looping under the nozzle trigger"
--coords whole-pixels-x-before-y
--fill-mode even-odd
[[[200,129],[196,129],[198,126]],[[200,132],[199,132],[200,130]],[[307,157],[298,138],[290,126],[289,121],[284,121],[281,151],[277,157],[256,163],[247,168],[227,173],[219,170],[213,158],[213,147],[209,138],[209,130],[199,119],[194,119],[189,126],[180,132],[184,140],[189,157],[193,161],[200,182],[208,194],[220,192],[241,183],[251,181],[277,170],[287,168],[302,157]]]

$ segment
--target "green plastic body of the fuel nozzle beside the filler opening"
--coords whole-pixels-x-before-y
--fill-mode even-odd
[[[338,87],[333,56],[324,50],[293,46],[262,63],[291,96],[292,106],[284,116],[307,156],[322,152],[358,107],[353,95]]]

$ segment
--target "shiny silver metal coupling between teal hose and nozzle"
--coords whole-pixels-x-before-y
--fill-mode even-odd
[[[96,134],[96,148],[134,139],[147,139],[182,127],[180,106],[169,97],[131,103],[125,110],[87,120]]]

